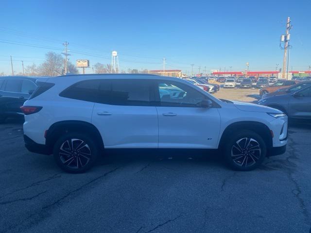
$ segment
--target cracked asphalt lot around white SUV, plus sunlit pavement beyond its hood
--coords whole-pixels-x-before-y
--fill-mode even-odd
[[[258,90],[248,91],[215,95],[255,101]],[[250,172],[205,151],[113,150],[90,171],[67,174],[52,156],[28,152],[22,135],[21,121],[0,125],[2,233],[310,231],[311,122],[292,123],[287,152]]]

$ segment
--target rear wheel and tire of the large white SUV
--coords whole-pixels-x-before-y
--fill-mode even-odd
[[[82,133],[61,136],[53,147],[56,164],[66,172],[82,173],[90,169],[99,154],[95,140]]]

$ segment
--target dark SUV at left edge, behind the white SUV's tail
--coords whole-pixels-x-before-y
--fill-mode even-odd
[[[24,117],[19,107],[37,87],[36,79],[25,76],[0,77],[0,123],[7,117]]]

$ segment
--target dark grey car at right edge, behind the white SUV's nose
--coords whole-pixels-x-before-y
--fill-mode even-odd
[[[258,104],[278,109],[290,118],[311,119],[311,85],[284,95],[263,98]]]

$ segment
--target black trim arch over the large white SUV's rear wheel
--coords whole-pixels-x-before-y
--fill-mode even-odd
[[[81,120],[64,120],[53,123],[46,133],[45,144],[52,149],[57,139],[65,133],[86,133],[93,137],[99,145],[99,149],[104,149],[104,142],[101,133],[91,123]]]

